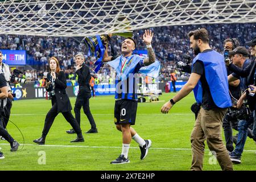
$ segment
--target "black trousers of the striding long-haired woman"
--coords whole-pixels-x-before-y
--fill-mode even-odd
[[[48,111],[48,113],[46,115],[46,120],[44,121],[44,129],[42,132],[43,138],[46,138],[46,135],[48,134],[49,129],[51,128],[52,123],[58,114],[59,113],[57,111],[57,103],[55,102],[55,104],[53,104],[52,108]],[[73,127],[73,129],[76,131],[77,137],[82,137],[82,132],[81,132],[80,126],[76,122],[76,119],[73,117],[71,111],[64,112],[61,114],[64,116],[64,118],[67,120],[67,122],[69,122],[70,125]]]

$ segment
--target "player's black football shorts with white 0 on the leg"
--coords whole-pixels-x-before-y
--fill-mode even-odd
[[[115,101],[114,122],[115,125],[128,123],[135,125],[138,101],[121,99]]]

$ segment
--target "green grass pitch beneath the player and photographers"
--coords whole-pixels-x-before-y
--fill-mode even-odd
[[[13,102],[7,129],[20,143],[19,150],[10,152],[10,145],[0,141],[5,159],[0,160],[0,170],[189,170],[191,165],[190,134],[195,116],[190,106],[195,102],[193,94],[178,102],[169,114],[160,113],[162,105],[173,93],[164,93],[159,102],[139,103],[134,129],[144,139],[152,140],[152,147],[146,159],[140,159],[138,144],[133,140],[129,150],[130,163],[112,165],[110,162],[122,151],[121,132],[114,125],[114,96],[98,96],[90,99],[90,109],[96,121],[98,134],[85,134],[90,125],[81,110],[81,129],[85,142],[70,143],[76,134],[66,134],[71,126],[59,114],[46,138],[46,145],[32,142],[42,134],[44,118],[51,108],[51,101],[20,100]],[[70,98],[74,106],[75,97]],[[73,110],[72,110],[73,113]],[[236,133],[236,132],[234,132]],[[224,137],[222,131],[222,137]],[[205,142],[206,143],[206,142]],[[235,170],[256,169],[256,146],[247,139],[242,163],[234,165]],[[205,148],[204,170],[220,170],[220,166]]]

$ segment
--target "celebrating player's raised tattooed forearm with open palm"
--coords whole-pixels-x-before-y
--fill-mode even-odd
[[[152,38],[154,36],[154,32],[152,32],[151,30],[145,30],[144,34],[143,34],[143,40],[144,43],[147,46],[147,55],[148,57],[146,57],[143,60],[144,65],[150,65],[152,63],[155,63],[155,52],[151,46],[151,42],[152,42]]]

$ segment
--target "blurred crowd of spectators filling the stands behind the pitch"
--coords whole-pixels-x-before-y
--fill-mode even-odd
[[[208,24],[208,25],[186,25],[151,28],[154,31],[152,47],[155,50],[156,58],[161,62],[161,71],[159,80],[170,80],[171,72],[176,72],[177,77],[188,76],[187,73],[181,73],[175,69],[175,64],[182,61],[182,54],[187,53],[193,56],[192,49],[189,48],[189,39],[187,33],[196,28],[205,27],[210,34],[210,46],[216,51],[223,52],[223,41],[227,38],[238,38],[243,46],[256,35],[255,24]],[[144,30],[133,32],[134,39],[137,41],[137,49],[146,49],[143,44]],[[87,56],[85,44],[81,42],[82,38],[65,38],[51,36],[28,36],[28,35],[0,35],[0,49],[26,50],[27,63],[34,70],[25,70],[24,76],[28,80],[34,81],[40,77],[46,76],[48,71],[48,59],[56,56],[60,60],[60,67],[66,73],[68,79],[75,79],[69,75],[74,74],[74,56],[77,52],[85,53],[86,64],[90,67],[93,75],[94,62],[96,57]],[[110,47],[119,55],[121,53],[121,43],[123,38],[113,36]],[[108,79],[110,67],[104,65],[97,73],[100,80]]]

